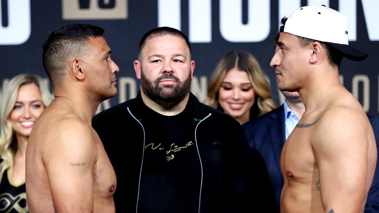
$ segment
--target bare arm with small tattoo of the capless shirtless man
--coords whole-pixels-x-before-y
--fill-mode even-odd
[[[93,212],[97,149],[91,129],[78,119],[64,119],[56,125],[42,151],[55,212]]]

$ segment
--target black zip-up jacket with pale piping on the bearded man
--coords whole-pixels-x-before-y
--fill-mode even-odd
[[[145,132],[138,119],[144,107],[139,92],[135,99],[99,113],[92,122],[116,172],[116,212],[136,212],[138,206],[145,147]],[[249,147],[240,124],[200,103],[193,94],[187,107],[198,120],[193,132],[202,167],[199,202],[193,205],[202,213],[276,212],[263,160]],[[156,125],[164,124],[157,121]]]

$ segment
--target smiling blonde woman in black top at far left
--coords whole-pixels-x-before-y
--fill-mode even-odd
[[[3,88],[0,100],[0,213],[28,212],[25,151],[34,122],[52,99],[47,83],[36,75],[17,75]]]

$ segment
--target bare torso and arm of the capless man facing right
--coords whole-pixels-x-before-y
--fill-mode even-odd
[[[31,132],[26,190],[31,213],[115,212],[116,175],[103,144],[64,99],[55,99]]]

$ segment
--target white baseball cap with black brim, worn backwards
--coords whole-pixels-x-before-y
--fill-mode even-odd
[[[324,42],[342,56],[363,61],[368,54],[349,46],[348,17],[325,5],[304,6],[293,11],[280,32]]]

